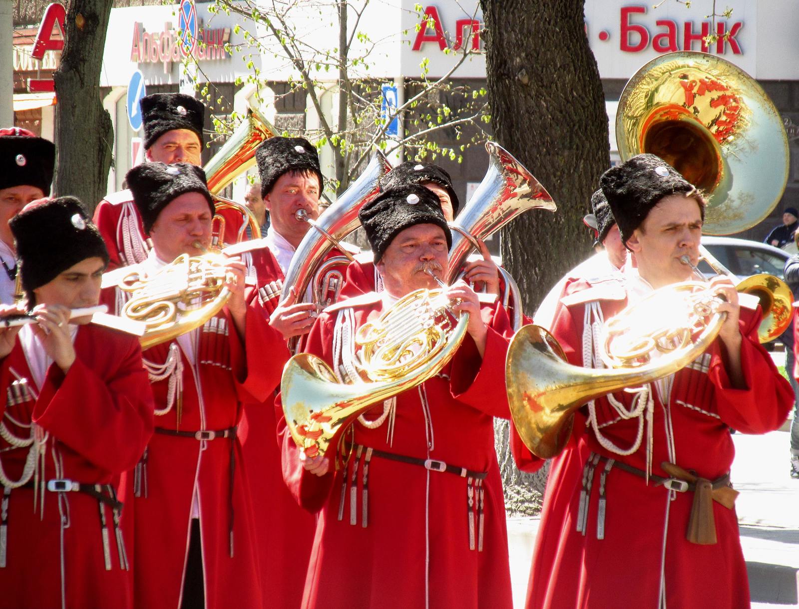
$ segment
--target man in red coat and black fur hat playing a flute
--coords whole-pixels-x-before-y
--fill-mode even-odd
[[[0,330],[0,607],[131,607],[117,480],[153,433],[139,341],[70,320],[108,261],[78,199],[28,205],[11,229],[35,324]]]

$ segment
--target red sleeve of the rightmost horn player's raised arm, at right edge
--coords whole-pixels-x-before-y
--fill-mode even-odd
[[[731,386],[720,340],[716,341],[718,348],[712,353],[708,371],[716,387],[718,415],[725,424],[744,433],[765,433],[779,428],[793,408],[793,389],[757,338],[760,321],[759,308],[756,313],[741,309],[741,368],[746,389]]]

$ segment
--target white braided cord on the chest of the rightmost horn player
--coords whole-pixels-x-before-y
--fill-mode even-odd
[[[591,313],[593,312],[594,321],[591,322]],[[602,363],[602,358],[599,356],[599,328],[604,323],[604,316],[602,315],[602,307],[599,305],[598,302],[594,301],[591,303],[586,304],[586,312],[585,317],[583,319],[583,327],[582,327],[582,363],[583,366],[586,368],[603,368],[604,364]],[[587,424],[590,424],[591,428],[594,430],[594,435],[596,436],[599,444],[602,448],[605,448],[606,451],[614,452],[617,455],[621,456],[628,456],[632,455],[634,452],[641,447],[641,441],[643,439],[643,428],[644,428],[644,412],[646,411],[646,424],[647,424],[647,449],[646,449],[646,471],[647,473],[651,471],[651,460],[652,460],[652,444],[653,444],[653,437],[652,437],[652,423],[653,423],[653,413],[654,413],[654,400],[652,398],[652,388],[650,384],[644,385],[642,388],[638,390],[637,395],[633,398],[633,403],[630,406],[630,409],[624,407],[619,400],[617,400],[612,393],[609,393],[607,396],[608,403],[610,406],[618,412],[618,416],[621,416],[622,419],[634,419],[638,418],[638,432],[635,436],[635,440],[633,444],[630,445],[630,448],[619,448],[614,444],[610,439],[606,438],[606,436],[602,435],[602,432],[599,429],[597,424],[597,417],[596,417],[596,404],[594,400],[590,400],[588,403],[588,421]]]

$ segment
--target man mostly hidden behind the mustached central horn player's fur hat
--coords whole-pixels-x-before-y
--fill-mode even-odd
[[[452,178],[446,169],[433,163],[419,161],[405,161],[394,167],[391,171],[380,178],[380,191],[397,188],[401,185],[416,184],[431,190],[441,201],[441,209],[447,222],[451,222],[460,208],[458,194],[455,193],[455,186],[452,185]],[[464,267],[464,277],[472,285],[487,286],[487,292],[492,294],[500,293],[500,280],[497,265],[491,259],[486,245],[480,241],[479,255],[470,260]],[[377,272],[376,265],[372,260],[372,253],[367,252],[356,256],[354,262],[347,266],[347,276],[344,279],[344,287],[341,289],[342,298],[352,298],[360,294],[380,292],[383,289],[383,279]]]

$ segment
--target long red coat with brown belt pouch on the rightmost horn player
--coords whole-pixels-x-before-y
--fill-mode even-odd
[[[609,293],[594,288],[582,300],[598,301],[608,319],[626,305],[623,289],[621,300],[614,300],[619,285],[615,294],[614,289]],[[586,287],[578,281],[566,288],[566,295]],[[584,302],[561,305],[553,327],[570,363],[581,366],[586,306]],[[764,433],[785,420],[792,392],[757,340],[760,318],[759,312],[741,308],[741,362],[748,389],[731,387],[721,340],[659,387],[651,384],[655,475],[668,477],[661,463],[671,461],[708,480],[717,479],[729,472],[733,461],[729,427]],[[630,394],[614,396],[630,408]],[[606,398],[596,401],[596,414],[598,424],[604,425],[600,428],[603,436],[619,448],[633,445],[637,419],[620,420]],[[674,443],[671,455],[670,441]],[[520,468],[531,471],[542,464],[515,434],[511,448]],[[669,492],[651,482],[646,486],[642,478],[611,468],[605,485],[604,539],[598,539],[602,463],[594,471],[590,488],[586,534],[577,532],[582,476],[590,452],[643,470],[646,423],[641,447],[630,456],[619,456],[602,448],[593,429],[586,428],[586,408],[577,412],[569,444],[552,463],[527,607],[658,607],[661,569],[667,607],[749,607],[734,509],[713,502],[718,543],[689,543],[686,528],[694,493]]]

